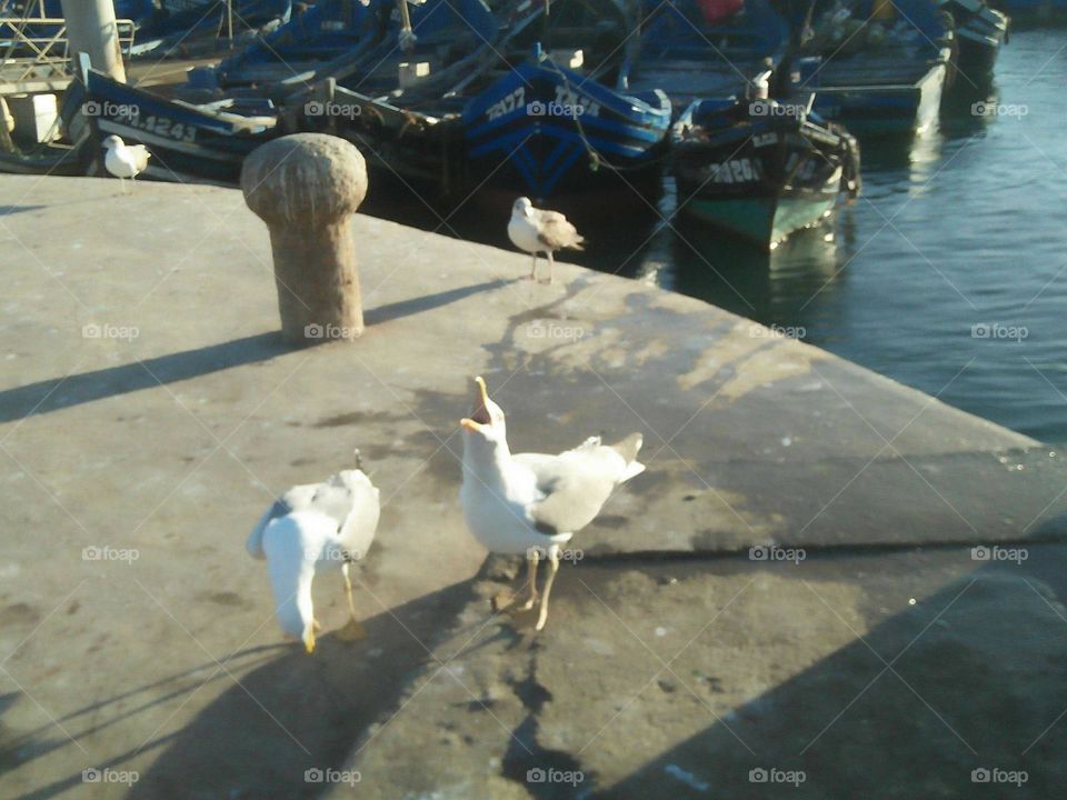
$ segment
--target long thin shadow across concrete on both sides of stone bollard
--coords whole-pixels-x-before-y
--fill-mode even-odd
[[[451,289],[380,306],[366,311],[365,322],[368,327],[391,322],[512,282],[515,280],[485,281],[461,289]],[[312,341],[310,343],[318,346],[327,344],[329,341]],[[121,367],[109,367],[67,376],[66,378],[38,381],[0,392],[0,422],[12,422],[31,413],[48,413],[94,400],[103,400],[104,398],[127,394],[142,389],[152,389],[159,384],[166,386],[190,378],[198,378],[232,367],[268,361],[276,356],[292,352],[296,349],[299,348],[286,342],[280,332],[273,331],[257,333],[220,344],[210,344],[197,350],[183,350],[182,352],[159,356]]]

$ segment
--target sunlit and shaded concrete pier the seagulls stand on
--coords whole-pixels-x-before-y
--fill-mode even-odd
[[[239,191],[0,177],[0,797],[1067,778],[1055,448],[702,302],[568,264],[530,283],[526,256],[361,216],[363,336],[291,348]],[[492,611],[517,564],[460,513],[475,374],[513,450],[645,434],[537,636]],[[357,447],[383,504],[356,576],[370,637],[331,634],[327,576],[308,657],[245,538]]]

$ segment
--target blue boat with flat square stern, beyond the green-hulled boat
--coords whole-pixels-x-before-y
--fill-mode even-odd
[[[799,58],[779,93],[815,92],[815,111],[856,136],[923,132],[938,118],[953,20],[929,0],[837,0],[814,27],[797,22]]]

